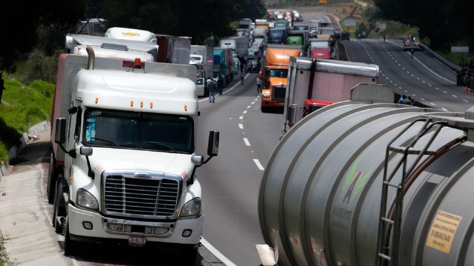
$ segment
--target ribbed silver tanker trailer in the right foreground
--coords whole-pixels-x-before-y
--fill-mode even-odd
[[[395,100],[358,85],[278,143],[258,202],[278,265],[474,265],[474,107]]]

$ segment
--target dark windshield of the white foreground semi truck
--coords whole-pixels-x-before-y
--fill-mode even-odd
[[[194,152],[194,121],[190,116],[87,109],[83,141],[90,146]]]

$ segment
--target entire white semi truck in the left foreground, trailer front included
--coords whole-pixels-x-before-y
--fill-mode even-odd
[[[67,255],[80,242],[156,242],[192,263],[203,224],[195,171],[217,155],[219,132],[211,131],[204,162],[195,154],[196,67],[125,62],[97,58],[94,69],[91,55],[60,57],[48,178],[53,225],[65,233]]]

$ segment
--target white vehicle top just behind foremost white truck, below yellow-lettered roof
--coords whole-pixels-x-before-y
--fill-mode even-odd
[[[149,41],[112,39],[102,36],[67,34],[65,47],[69,54],[87,55],[86,47],[94,49],[96,57],[122,58],[142,62],[157,62],[158,45]]]

